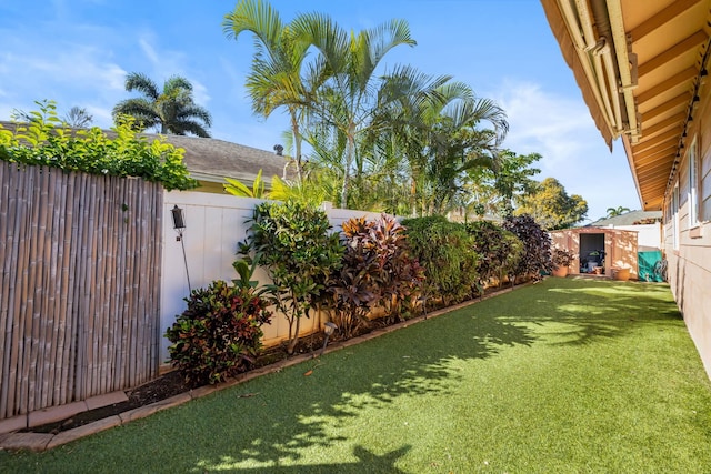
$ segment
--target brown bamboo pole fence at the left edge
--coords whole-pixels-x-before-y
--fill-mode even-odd
[[[0,162],[0,418],[157,375],[163,191]]]

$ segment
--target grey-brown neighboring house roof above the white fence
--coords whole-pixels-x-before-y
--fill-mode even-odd
[[[0,125],[8,130],[14,130],[16,122],[0,121]],[[104,130],[107,135],[114,132]],[[161,135],[142,133],[149,140]],[[259,150],[251,147],[200,137],[162,135],[168,143],[186,151],[183,162],[196,180],[204,183],[224,183],[224,178],[232,178],[251,185],[259,170],[262,170],[262,179],[269,186],[271,177],[282,178],[284,169],[287,175],[292,174],[292,167],[287,157],[273,152]]]

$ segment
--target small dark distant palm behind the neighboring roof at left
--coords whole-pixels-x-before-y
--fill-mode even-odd
[[[168,78],[163,90],[149,77],[131,72],[126,77],[126,90],[138,91],[144,97],[122,100],[113,108],[113,120],[121,115],[136,119],[141,130],[157,127],[160,133],[184,135],[192,133],[198,137],[210,137],[207,128],[212,124],[212,118],[207,109],[194,103],[192,84],[180,75]]]

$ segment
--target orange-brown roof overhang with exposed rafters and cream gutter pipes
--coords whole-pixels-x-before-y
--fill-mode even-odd
[[[541,0],[608,145],[660,210],[708,74],[711,0]]]

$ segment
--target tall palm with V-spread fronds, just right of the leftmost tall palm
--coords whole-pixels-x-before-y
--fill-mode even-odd
[[[375,70],[383,57],[400,44],[414,46],[404,20],[392,20],[377,28],[348,32],[320,13],[299,16],[291,23],[294,33],[319,52],[314,77],[328,78],[319,84],[314,101],[316,127],[336,128],[343,137],[341,206],[348,206],[350,181],[361,163],[357,143],[359,137],[375,124],[378,91],[382,78]]]

